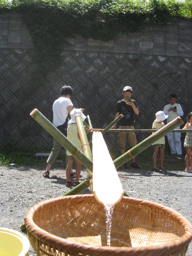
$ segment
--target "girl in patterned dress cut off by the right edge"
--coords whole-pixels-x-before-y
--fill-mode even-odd
[[[187,123],[183,127],[183,129],[192,129],[192,112],[189,113]],[[192,132],[187,132],[184,140],[184,147],[186,148],[186,155],[185,155],[185,171],[187,173],[192,173]],[[189,166],[189,159],[190,159],[190,166]]]

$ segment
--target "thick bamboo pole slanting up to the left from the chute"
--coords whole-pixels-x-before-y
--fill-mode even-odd
[[[93,170],[93,162],[69,141],[57,127],[55,127],[38,109],[34,109],[30,116],[44,127],[59,143],[72,153],[84,166]]]

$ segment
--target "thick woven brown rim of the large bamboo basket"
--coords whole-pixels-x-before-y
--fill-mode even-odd
[[[81,199],[82,201],[88,200],[94,198],[93,194],[81,194],[81,195],[72,195],[72,196],[62,196],[62,197],[56,197],[56,198],[51,198],[51,199],[47,199],[44,200],[42,202],[39,202],[37,204],[35,204],[34,206],[32,206],[29,211],[27,212],[26,216],[25,216],[25,226],[27,228],[27,231],[29,233],[34,234],[34,236],[36,237],[36,239],[42,241],[45,244],[49,244],[53,247],[57,247],[58,249],[60,249],[61,251],[71,251],[73,253],[81,253],[81,254],[87,254],[87,255],[91,255],[90,254],[90,249],[94,249],[93,250],[93,254],[94,255],[106,255],[106,252],[108,253],[112,253],[114,255],[119,254],[119,255],[127,255],[127,253],[136,253],[136,251],[140,252],[141,251],[145,251],[145,253],[149,252],[152,253],[152,251],[159,251],[162,250],[164,252],[166,252],[166,255],[171,254],[173,252],[176,251],[176,247],[177,247],[177,251],[181,250],[184,245],[186,244],[186,246],[188,246],[188,244],[191,242],[192,240],[192,224],[190,223],[190,221],[188,219],[186,219],[182,214],[180,214],[179,212],[177,212],[176,210],[171,209],[168,206],[164,206],[162,204],[159,203],[155,203],[149,200],[143,200],[143,199],[139,199],[139,198],[134,198],[134,197],[123,197],[123,199],[119,202],[129,202],[129,203],[135,203],[135,204],[139,204],[142,206],[149,206],[149,207],[153,207],[156,210],[160,210],[164,213],[167,213],[168,215],[171,215],[173,218],[175,218],[177,221],[179,221],[183,228],[184,228],[184,234],[179,237],[179,239],[172,241],[172,242],[168,242],[168,243],[163,243],[163,244],[159,244],[159,245],[154,245],[154,246],[143,246],[143,247],[108,247],[108,246],[94,246],[94,245],[90,245],[90,244],[86,244],[86,243],[80,243],[80,242],[74,242],[74,241],[70,241],[61,237],[58,237],[56,235],[53,235],[43,229],[41,229],[40,227],[38,227],[35,222],[33,221],[33,216],[36,212],[40,211],[42,208],[46,209],[51,206],[54,205],[58,205],[58,204],[62,204],[63,201],[67,202],[75,202],[79,199]],[[48,242],[47,242],[48,240]],[[97,254],[95,254],[95,250],[97,250]],[[136,254],[135,254],[136,255]],[[147,255],[147,254],[146,254]],[[163,255],[163,254],[160,254]]]

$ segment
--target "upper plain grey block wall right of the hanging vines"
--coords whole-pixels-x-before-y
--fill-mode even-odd
[[[119,34],[107,43],[80,35],[68,41],[71,45],[65,45],[65,50],[192,57],[192,21],[172,19],[166,24],[146,25],[143,30]]]

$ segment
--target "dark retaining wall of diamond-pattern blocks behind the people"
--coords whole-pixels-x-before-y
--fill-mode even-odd
[[[177,94],[183,107],[184,122],[192,110],[192,58],[145,55],[134,58],[126,53],[65,51],[62,61],[62,66],[47,75],[47,83],[37,86],[30,83],[34,66],[30,52],[1,49],[1,141],[11,139],[18,145],[51,146],[52,139],[29,114],[37,108],[48,117],[65,83],[74,90],[74,107],[85,108],[94,128],[105,128],[112,122],[125,85],[133,87],[132,98],[140,110],[135,117],[135,129],[151,129],[155,113],[168,104],[171,92]],[[136,133],[136,136],[140,142],[149,134]],[[105,139],[110,149],[118,149],[115,133],[106,134]]]

